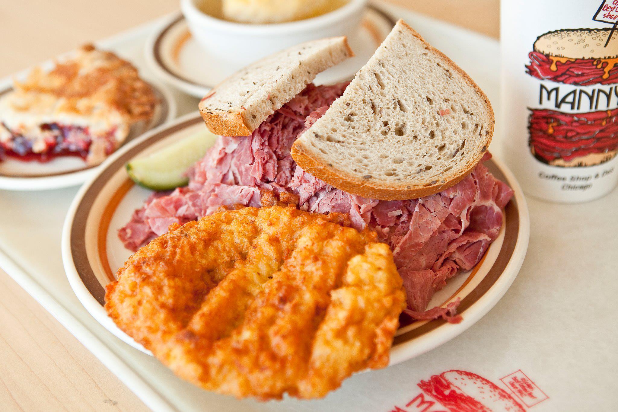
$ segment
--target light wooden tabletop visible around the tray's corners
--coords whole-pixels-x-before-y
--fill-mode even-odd
[[[499,0],[390,0],[498,36]],[[0,77],[178,8],[178,0],[0,2]],[[98,359],[0,271],[0,410],[143,411]]]

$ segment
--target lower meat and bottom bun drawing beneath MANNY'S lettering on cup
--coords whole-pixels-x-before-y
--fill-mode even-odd
[[[559,167],[601,164],[618,151],[618,109],[564,113],[530,109],[530,151],[538,161]]]

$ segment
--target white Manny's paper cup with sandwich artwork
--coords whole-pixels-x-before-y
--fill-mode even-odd
[[[618,183],[618,0],[507,0],[501,14],[509,166],[537,198],[606,195]]]

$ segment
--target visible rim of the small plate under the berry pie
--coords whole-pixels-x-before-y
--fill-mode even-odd
[[[169,122],[176,117],[176,100],[163,85],[150,83],[161,104],[155,116],[139,128],[133,128],[127,142],[142,133]],[[12,90],[12,85],[0,86],[0,95]],[[87,166],[82,158],[59,156],[48,162],[21,161],[7,157],[0,161],[0,189],[5,190],[50,190],[80,185],[93,177],[98,166]]]

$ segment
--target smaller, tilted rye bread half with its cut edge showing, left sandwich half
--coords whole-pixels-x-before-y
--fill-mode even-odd
[[[247,136],[318,73],[353,56],[345,36],[307,41],[248,65],[219,83],[199,109],[216,135]]]

